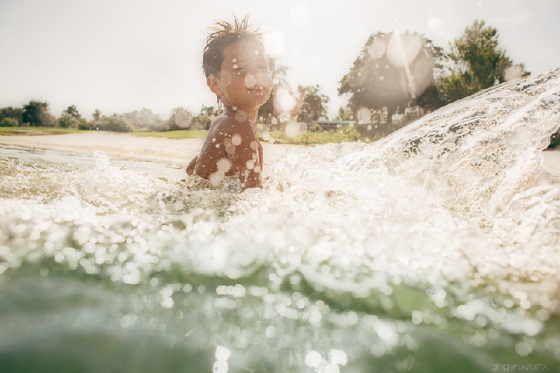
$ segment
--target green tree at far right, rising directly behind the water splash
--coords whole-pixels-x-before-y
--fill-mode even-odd
[[[475,20],[465,34],[449,44],[449,75],[437,83],[442,104],[477,93],[497,83],[531,74],[523,64],[514,65],[498,48],[498,30]]]

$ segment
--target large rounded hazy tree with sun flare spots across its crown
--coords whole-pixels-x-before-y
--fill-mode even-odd
[[[350,72],[340,81],[339,95],[350,93],[353,112],[387,108],[393,114],[416,104],[443,69],[442,48],[420,34],[378,32],[369,36]]]

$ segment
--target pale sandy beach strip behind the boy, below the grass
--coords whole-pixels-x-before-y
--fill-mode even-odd
[[[202,147],[202,139],[168,139],[164,137],[136,137],[131,134],[92,131],[67,135],[0,136],[0,144],[27,149],[48,149],[69,154],[92,155],[104,151],[110,158],[127,161],[149,161],[184,169]],[[263,143],[264,166],[273,165],[289,148],[303,149],[303,145]],[[542,168],[560,176],[560,149],[542,151]]]

